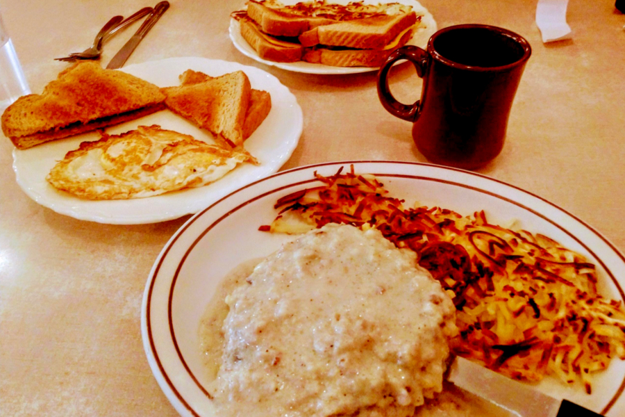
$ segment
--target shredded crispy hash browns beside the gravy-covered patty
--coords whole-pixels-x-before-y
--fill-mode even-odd
[[[555,374],[569,384],[612,357],[625,359],[625,311],[597,293],[592,263],[556,241],[489,224],[483,211],[462,217],[444,208],[404,208],[372,176],[317,175],[323,186],[278,200],[261,231],[298,234],[344,223],[380,230],[417,252],[453,298],[460,336],[455,354],[515,379]]]

